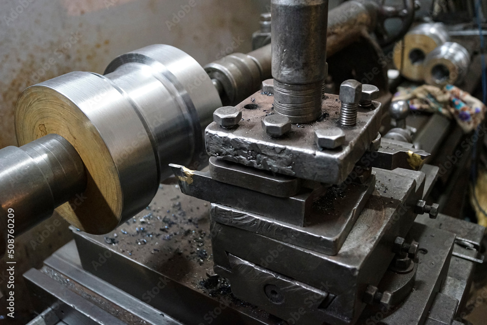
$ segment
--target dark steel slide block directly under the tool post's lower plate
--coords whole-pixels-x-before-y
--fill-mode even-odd
[[[337,296],[326,309],[333,318],[329,323],[352,322],[365,307],[358,301],[363,290],[368,284],[377,285],[392,261],[395,237],[409,232],[416,217],[412,207],[424,190],[425,177],[421,172],[377,170],[376,178],[377,191],[367,201],[337,255],[212,221],[215,265],[229,272],[232,268],[228,254],[233,254],[314,288],[325,284],[326,291]]]

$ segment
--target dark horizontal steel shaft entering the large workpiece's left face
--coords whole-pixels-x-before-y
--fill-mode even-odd
[[[60,135],[48,134],[0,150],[0,184],[2,255],[7,233],[20,235],[76,195],[82,199],[86,174],[75,148]]]

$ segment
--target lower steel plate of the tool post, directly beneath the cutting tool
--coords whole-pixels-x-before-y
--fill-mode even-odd
[[[345,190],[328,189],[313,205],[304,227],[211,204],[210,217],[216,222],[237,227],[319,253],[335,255],[347,238],[356,219],[375,189],[375,176],[365,184],[351,183]]]

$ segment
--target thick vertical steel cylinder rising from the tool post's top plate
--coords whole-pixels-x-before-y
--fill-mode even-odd
[[[328,0],[272,0],[274,109],[293,123],[321,115]]]

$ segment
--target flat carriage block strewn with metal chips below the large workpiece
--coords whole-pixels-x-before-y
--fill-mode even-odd
[[[161,185],[148,209],[110,234],[74,233],[84,270],[177,320],[276,324],[214,274],[209,204],[181,194],[178,185]],[[215,310],[221,314],[213,318]]]

